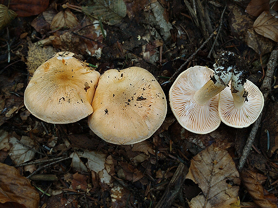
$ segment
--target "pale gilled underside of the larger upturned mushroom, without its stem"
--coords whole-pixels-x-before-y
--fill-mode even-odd
[[[169,91],[171,109],[179,124],[190,132],[207,134],[218,128],[218,94],[200,105],[194,94],[213,76],[207,67],[195,66],[182,72]]]

